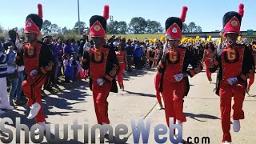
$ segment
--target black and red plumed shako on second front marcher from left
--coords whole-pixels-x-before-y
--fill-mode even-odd
[[[90,37],[106,38],[106,21],[109,18],[110,6],[105,5],[103,16],[94,15],[90,18]]]

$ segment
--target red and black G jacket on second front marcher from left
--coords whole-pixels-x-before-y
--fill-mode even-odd
[[[99,52],[97,52],[99,51]],[[118,58],[114,47],[102,46],[102,49],[90,49],[84,51],[82,57],[82,68],[90,70],[90,90],[92,90],[92,81],[103,78],[106,82],[112,82],[111,92],[118,93],[118,86],[115,80],[119,71]]]

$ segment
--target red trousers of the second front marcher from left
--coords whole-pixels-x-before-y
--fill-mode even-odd
[[[103,86],[99,86],[96,81],[92,83],[92,91],[94,97],[94,110],[96,113],[98,124],[102,122],[110,124],[108,118],[108,102],[107,97],[110,94],[111,82],[105,82]]]

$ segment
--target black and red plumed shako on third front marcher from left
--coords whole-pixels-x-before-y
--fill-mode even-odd
[[[166,38],[182,39],[182,23],[185,22],[187,7],[182,7],[180,18],[170,17],[166,20]]]

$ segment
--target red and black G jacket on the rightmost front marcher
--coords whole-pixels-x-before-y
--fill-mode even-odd
[[[219,95],[220,82],[226,82],[228,78],[238,78],[238,82],[247,85],[247,78],[255,71],[254,58],[248,46],[237,44],[231,49],[223,48],[221,56],[215,50],[209,69],[211,73],[218,70],[215,93]]]

